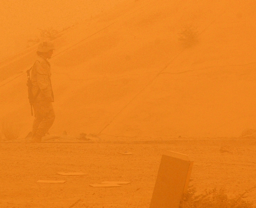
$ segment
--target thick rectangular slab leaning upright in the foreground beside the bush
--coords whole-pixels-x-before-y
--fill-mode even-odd
[[[193,162],[187,155],[167,152],[162,156],[150,208],[179,208],[188,188]]]

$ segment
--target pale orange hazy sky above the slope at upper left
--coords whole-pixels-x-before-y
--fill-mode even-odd
[[[124,0],[2,0],[0,60],[26,48],[40,29],[61,30]]]

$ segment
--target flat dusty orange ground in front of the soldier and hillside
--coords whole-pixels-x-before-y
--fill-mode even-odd
[[[146,143],[146,142],[145,142]],[[165,144],[0,143],[0,207],[149,207],[166,150],[195,161],[191,185],[225,187],[235,196],[256,186],[255,139],[173,140]],[[130,151],[133,155],[121,155]],[[59,176],[85,172],[88,176]],[[37,180],[66,180],[38,184]],[[92,188],[105,180],[132,181],[119,188]],[[256,190],[245,199],[256,203]]]

